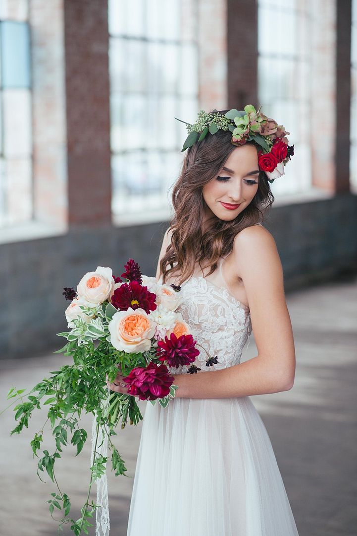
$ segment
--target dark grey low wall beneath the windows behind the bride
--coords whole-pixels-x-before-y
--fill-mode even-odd
[[[357,196],[272,207],[265,227],[281,256],[285,291],[357,271]],[[132,257],[148,276],[156,273],[168,222],[76,229],[66,235],[3,244],[0,274],[0,356],[55,351],[66,329],[62,289],[76,287],[98,265],[114,273]],[[331,304],[332,307],[332,304]]]

